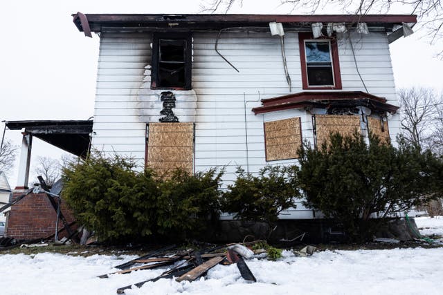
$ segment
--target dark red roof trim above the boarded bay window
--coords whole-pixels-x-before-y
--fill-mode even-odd
[[[361,91],[301,92],[262,99],[263,106],[253,108],[257,114],[284,111],[292,108],[329,108],[365,106],[372,111],[396,113],[398,106],[386,104],[386,99]]]

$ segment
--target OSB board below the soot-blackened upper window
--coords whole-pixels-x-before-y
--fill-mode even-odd
[[[194,172],[193,123],[150,123],[147,128],[146,166],[159,173],[177,168]]]

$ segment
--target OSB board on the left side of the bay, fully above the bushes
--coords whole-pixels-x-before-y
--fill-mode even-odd
[[[266,161],[298,158],[302,144],[300,117],[264,123]]]

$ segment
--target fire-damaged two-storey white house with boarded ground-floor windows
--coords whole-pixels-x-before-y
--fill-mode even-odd
[[[297,162],[303,141],[331,131],[395,143],[400,129],[389,44],[413,15],[78,12],[73,22],[100,37],[91,147],[141,169],[224,166],[226,185],[237,166]],[[319,217],[301,202],[282,216]]]

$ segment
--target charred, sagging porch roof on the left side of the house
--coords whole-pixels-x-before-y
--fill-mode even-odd
[[[87,120],[6,122],[10,130],[24,129],[25,133],[79,157],[86,155],[89,150],[92,124],[93,121]]]

